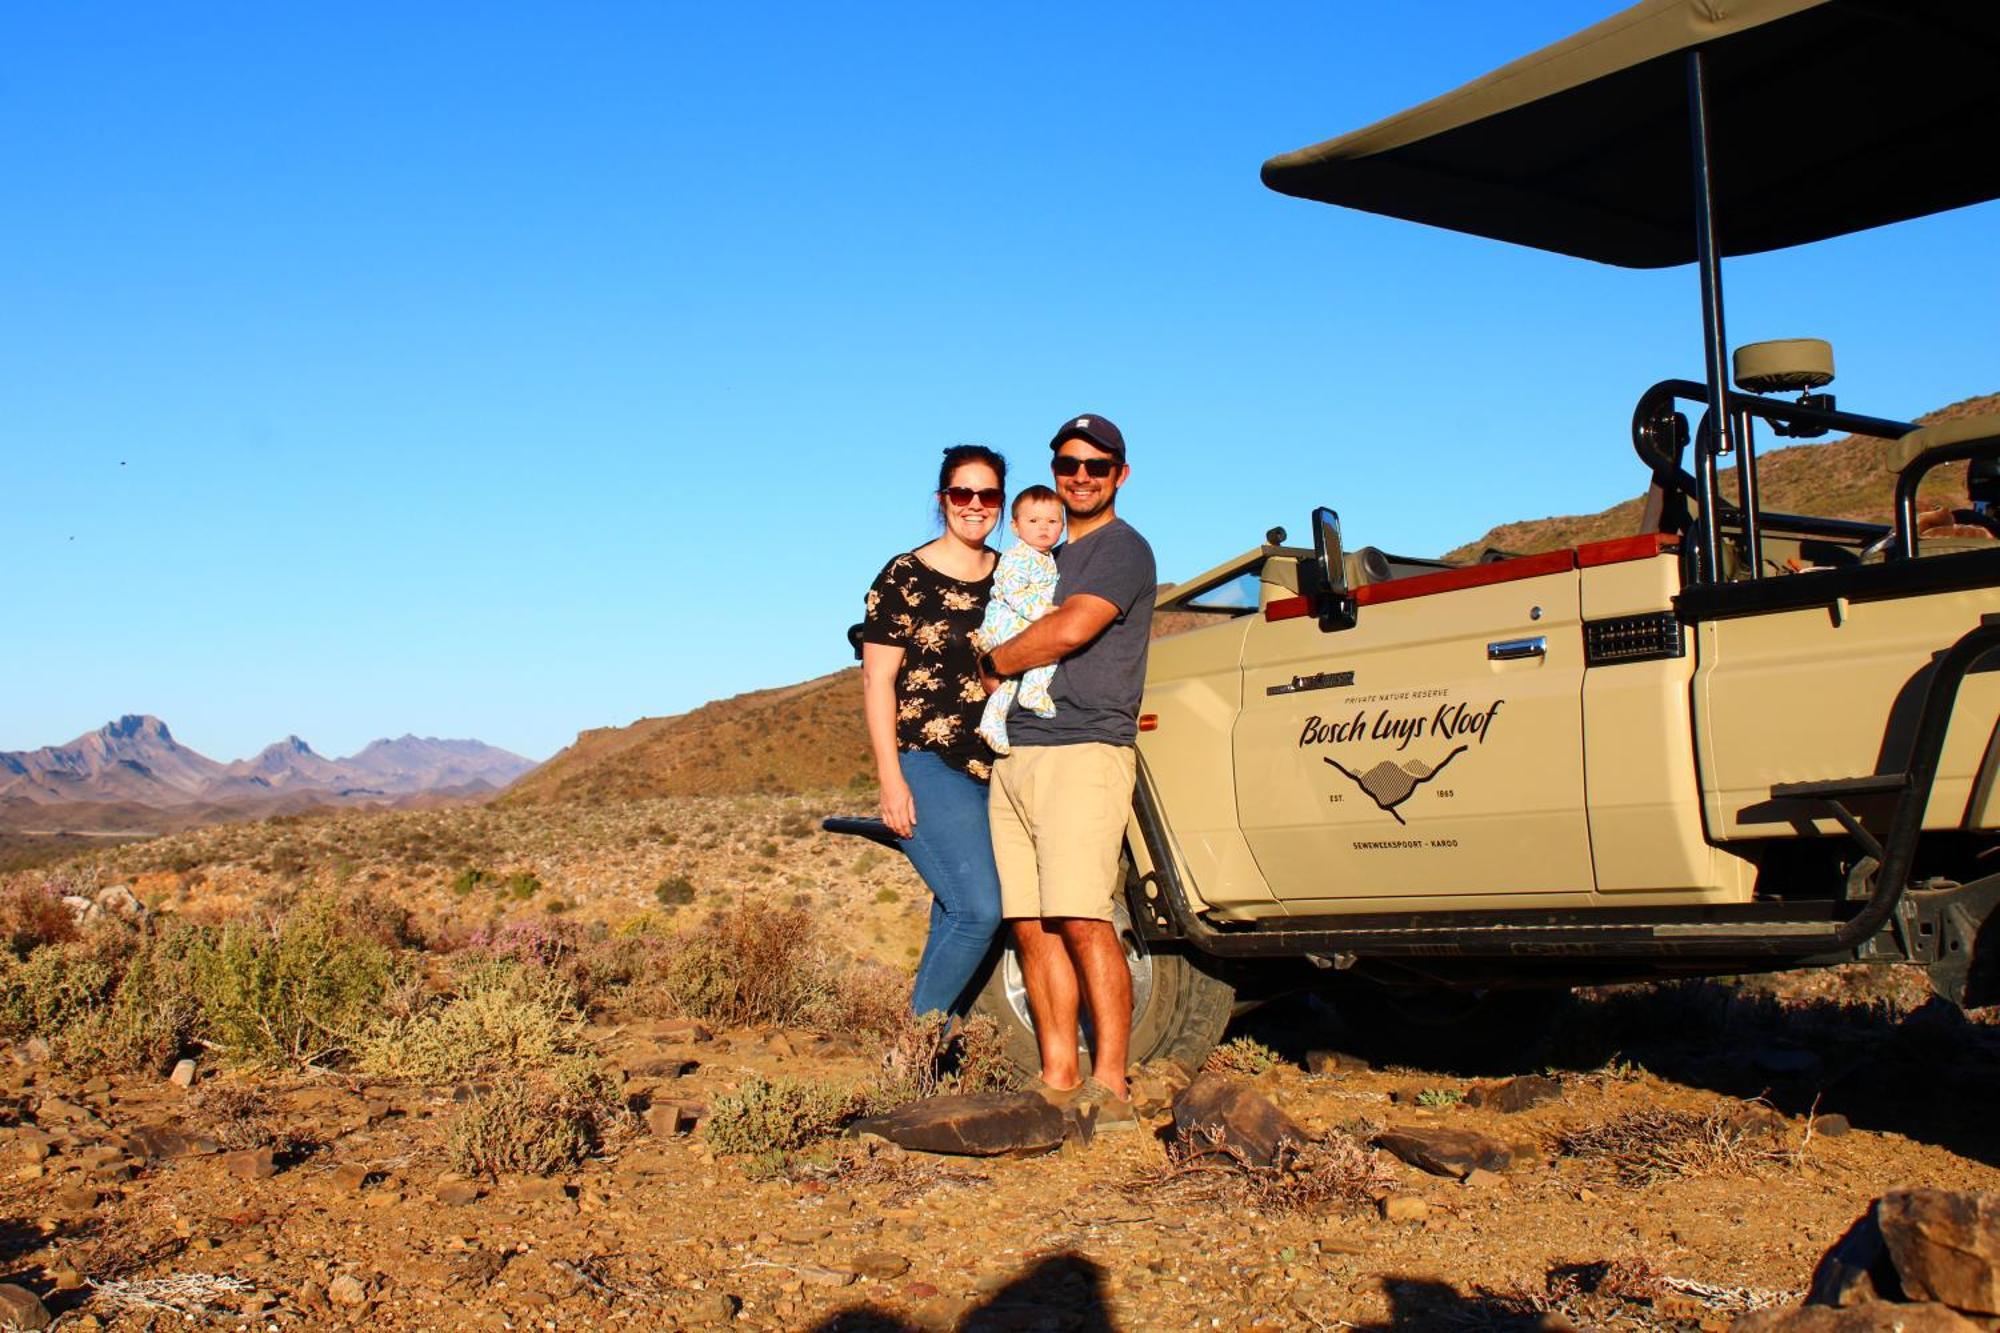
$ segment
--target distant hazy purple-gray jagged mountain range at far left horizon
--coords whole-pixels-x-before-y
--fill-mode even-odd
[[[298,737],[218,763],[150,715],[66,745],[0,751],[0,827],[188,825],[312,805],[414,805],[492,795],[534,761],[482,741],[400,737],[326,759]],[[108,823],[106,823],[108,821]]]

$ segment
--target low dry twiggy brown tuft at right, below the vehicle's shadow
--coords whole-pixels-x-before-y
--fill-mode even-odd
[[[1770,1119],[1732,1107],[1668,1111],[1648,1107],[1612,1121],[1564,1129],[1552,1139],[1562,1157],[1602,1167],[1626,1189],[1660,1181],[1746,1175],[1758,1167],[1798,1167],[1806,1147],[1784,1147]]]

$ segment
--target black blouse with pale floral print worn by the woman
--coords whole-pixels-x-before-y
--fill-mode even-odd
[[[954,769],[986,781],[992,751],[978,737],[986,689],[972,630],[986,616],[992,574],[974,582],[940,574],[914,552],[882,566],[868,586],[862,642],[902,648],[896,669],[896,745],[934,751]]]

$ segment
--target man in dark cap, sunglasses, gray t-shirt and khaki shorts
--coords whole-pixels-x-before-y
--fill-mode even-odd
[[[1118,853],[1132,811],[1138,701],[1158,588],[1152,546],[1118,518],[1124,434],[1102,416],[1064,422],[1054,450],[1068,540],[1056,608],[982,658],[992,677],[1060,662],[1054,717],[1016,709],[994,765],[990,815],[1000,909],[1020,945],[1042,1053],[1040,1091],[1082,1097],[1098,1129],[1136,1125],[1126,1093],[1132,971],[1112,929]],[[1092,1079],[1078,1067],[1078,1001],[1090,1005]]]

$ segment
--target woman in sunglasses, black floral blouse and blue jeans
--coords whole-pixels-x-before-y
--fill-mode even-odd
[[[986,534],[1006,502],[1006,458],[954,444],[938,468],[944,532],[876,574],[862,620],[862,711],[882,781],[882,823],[930,887],[930,939],[914,1013],[962,1015],[1000,931],[1000,875],[986,827],[992,753],[978,739],[978,654],[998,554]]]

